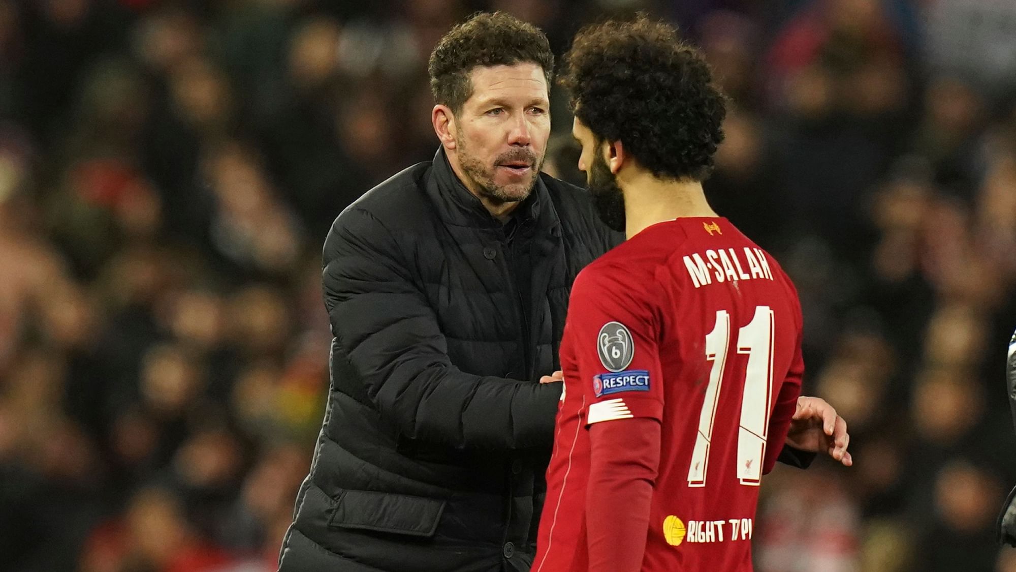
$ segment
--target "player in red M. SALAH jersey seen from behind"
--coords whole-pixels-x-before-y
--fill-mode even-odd
[[[562,84],[579,168],[628,240],[572,288],[532,570],[752,570],[802,316],[776,262],[702,190],[724,98],[698,52],[645,18],[579,33]]]

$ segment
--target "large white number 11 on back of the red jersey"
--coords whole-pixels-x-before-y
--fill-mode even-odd
[[[773,313],[769,306],[756,306],[752,321],[738,331],[738,353],[748,354],[745,367],[745,391],[741,398],[741,426],[738,430],[738,480],[757,487],[762,479],[765,440],[769,431],[769,405],[772,393]],[[709,385],[699,413],[698,435],[688,485],[705,487],[709,466],[709,444],[719,402],[719,389],[731,346],[731,314],[716,311],[716,325],[705,337],[705,358],[712,361]]]

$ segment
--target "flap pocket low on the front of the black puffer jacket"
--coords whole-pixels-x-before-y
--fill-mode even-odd
[[[378,493],[345,491],[335,505],[329,526],[430,537],[438,528],[445,501]]]

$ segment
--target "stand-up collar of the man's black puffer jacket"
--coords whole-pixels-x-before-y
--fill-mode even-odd
[[[498,228],[501,221],[497,220],[484,207],[477,195],[469,192],[465,184],[451,168],[444,148],[438,148],[432,164],[431,176],[427,181],[427,193],[431,202],[438,208],[441,218],[458,226],[480,228]],[[520,222],[539,217],[541,205],[550,205],[550,194],[543,177],[537,174],[536,184],[521,205],[512,212],[513,217],[521,217]]]

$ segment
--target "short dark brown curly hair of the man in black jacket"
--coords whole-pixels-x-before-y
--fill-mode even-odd
[[[504,12],[478,12],[452,27],[431,52],[428,72],[434,100],[459,112],[472,95],[469,72],[477,66],[531,62],[554,79],[554,52],[538,27]]]

